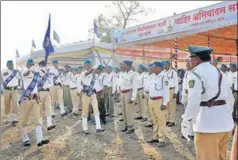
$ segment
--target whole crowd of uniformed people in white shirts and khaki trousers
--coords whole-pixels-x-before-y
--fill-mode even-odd
[[[108,118],[122,115],[121,132],[132,134],[134,120],[142,121],[145,127],[153,128],[153,137],[147,143],[163,147],[166,127],[180,125],[175,119],[176,104],[182,103],[182,136],[194,140],[197,158],[225,160],[230,132],[238,117],[237,66],[231,64],[228,70],[222,64],[218,68],[217,63],[211,63],[212,49],[208,47],[189,46],[188,50],[186,71],[179,74],[168,60],[135,68],[129,60],[121,62],[120,68],[85,60],[77,68],[60,68],[57,60],[53,60],[53,66],[46,66],[44,61],[36,64],[29,59],[21,71],[9,60],[2,71],[6,123],[18,123],[21,105],[23,146],[31,145],[27,130],[30,115],[37,145],[42,146],[49,143],[43,136],[43,119],[47,130],[53,130],[57,108],[62,117],[70,112],[78,116],[82,111],[84,134],[90,134],[89,120],[95,123],[96,132],[104,132]],[[233,148],[236,145],[234,139]]]

